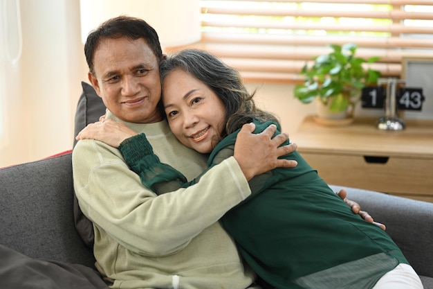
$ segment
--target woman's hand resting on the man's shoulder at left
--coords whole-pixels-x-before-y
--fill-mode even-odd
[[[122,141],[136,135],[137,133],[128,128],[125,123],[120,123],[113,119],[105,119],[104,116],[101,116],[100,121],[87,125],[86,128],[78,133],[75,139],[77,141],[81,139],[95,139],[118,148]]]

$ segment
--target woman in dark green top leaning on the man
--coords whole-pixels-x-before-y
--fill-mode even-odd
[[[161,63],[160,73],[172,132],[185,146],[210,153],[209,167],[232,155],[243,124],[255,123],[256,132],[269,123],[279,127],[255,107],[239,73],[210,53],[181,51]],[[156,193],[199,182],[186,183],[161,164],[143,134],[119,149]],[[221,218],[265,288],[423,288],[383,229],[353,214],[297,152],[286,157],[297,167],[252,178],[250,198]]]

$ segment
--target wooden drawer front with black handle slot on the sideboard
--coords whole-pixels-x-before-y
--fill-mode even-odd
[[[299,152],[328,184],[433,200],[433,159]]]

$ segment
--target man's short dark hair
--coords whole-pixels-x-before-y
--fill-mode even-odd
[[[98,28],[91,31],[84,44],[89,71],[93,74],[93,58],[95,50],[104,38],[118,39],[127,37],[131,40],[144,39],[150,49],[154,51],[156,59],[163,59],[163,51],[158,38],[158,33],[146,21],[136,17],[119,16],[111,18],[102,23]]]

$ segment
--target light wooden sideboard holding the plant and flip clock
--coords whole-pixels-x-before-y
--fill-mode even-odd
[[[400,131],[376,121],[325,126],[308,116],[291,141],[328,184],[433,202],[433,121],[406,120]]]

